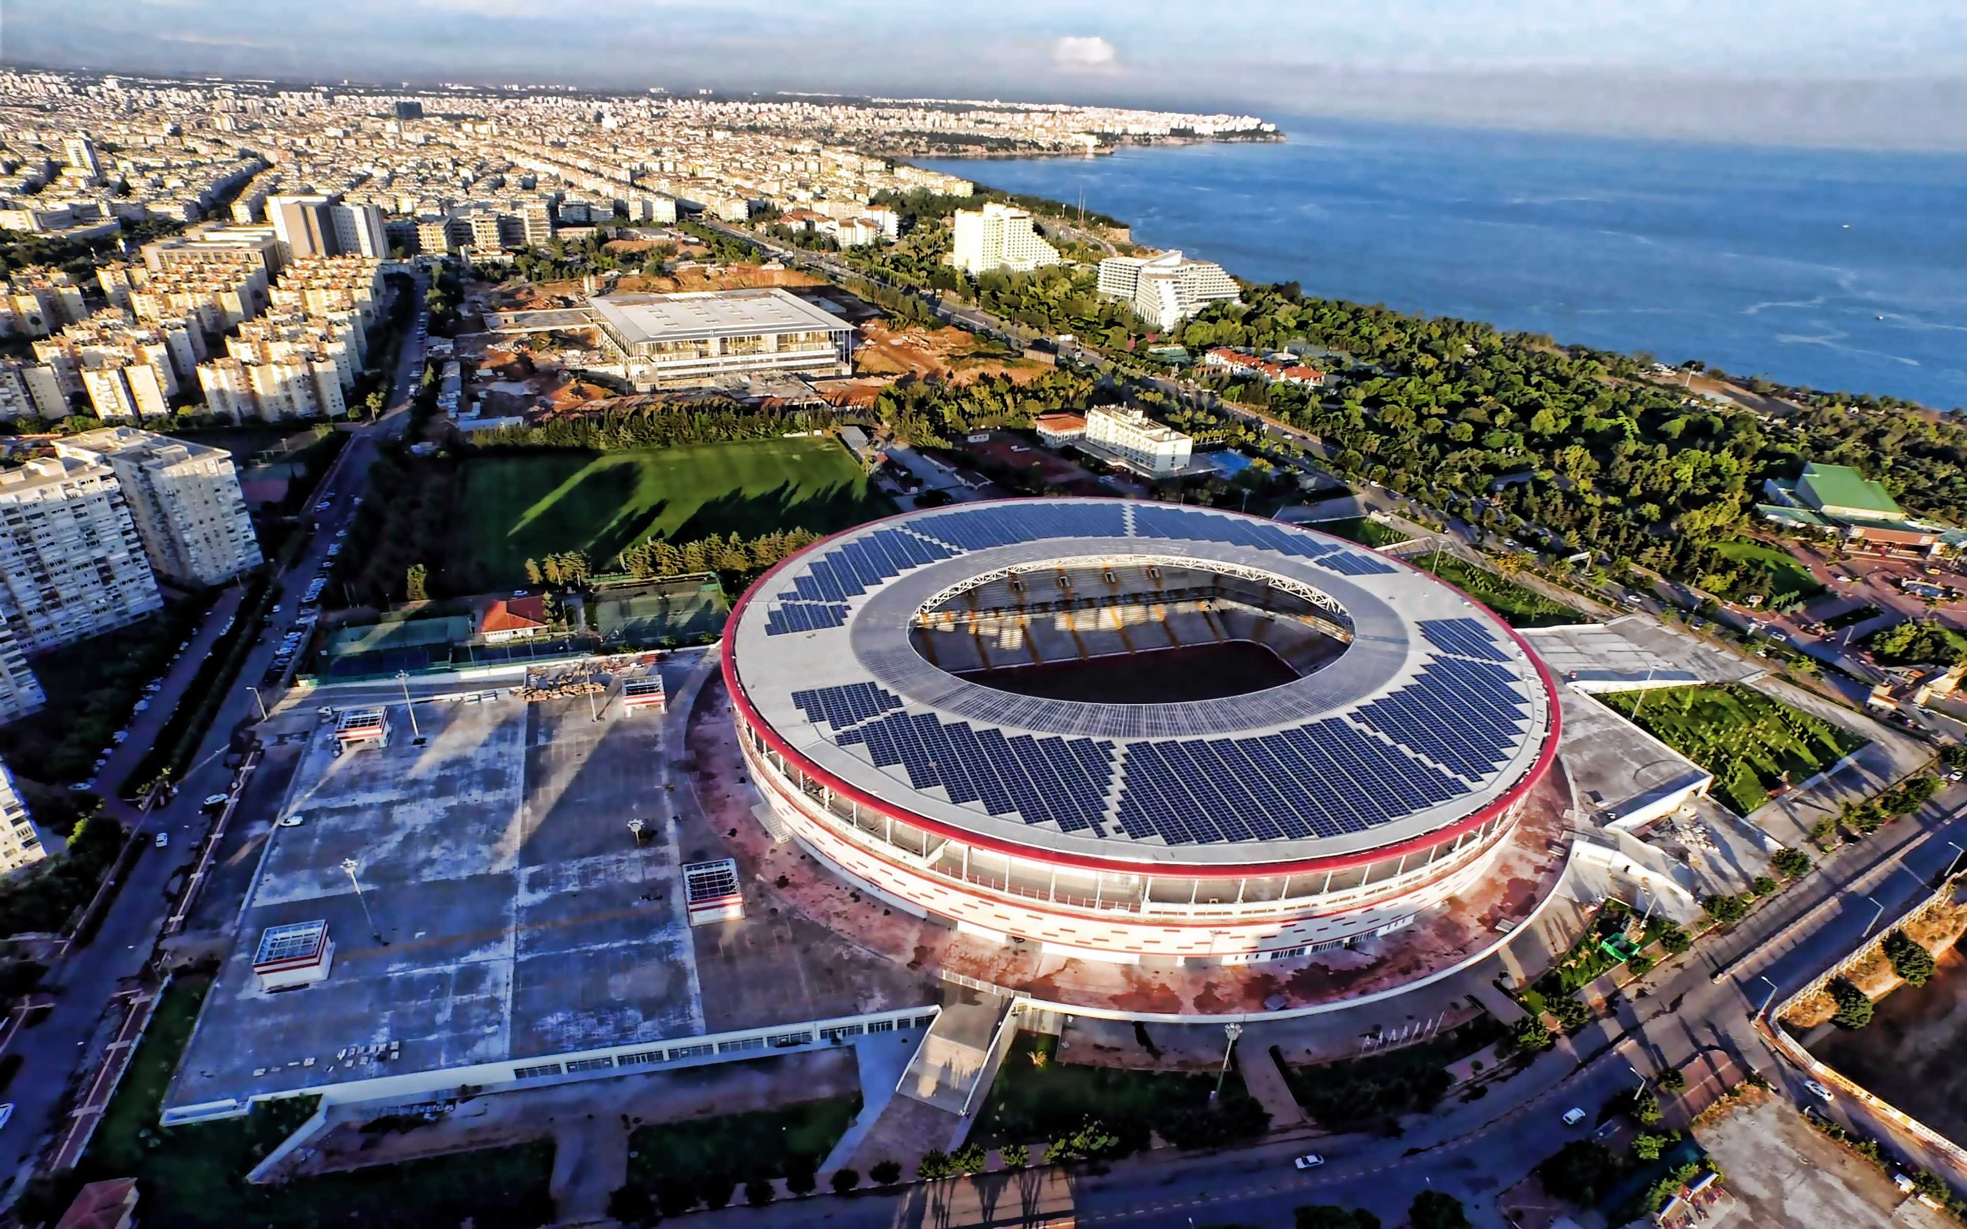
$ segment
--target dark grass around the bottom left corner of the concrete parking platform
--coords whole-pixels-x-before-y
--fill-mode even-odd
[[[553,1219],[547,1184],[553,1144],[460,1152],[393,1166],[246,1186],[246,1174],[313,1113],[313,1099],[262,1105],[250,1117],[157,1127],[171,1072],[191,1038],[205,977],[177,977],[77,1170],[37,1192],[59,1215],[83,1182],[136,1176],[144,1223],[212,1229],[325,1229],[327,1225],[480,1225],[531,1229]]]

